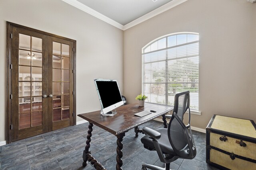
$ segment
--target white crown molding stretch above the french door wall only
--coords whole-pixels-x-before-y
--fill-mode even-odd
[[[77,0],[62,0],[62,1],[76,7],[79,10],[82,10],[82,11],[84,11],[84,12],[86,12],[86,13],[88,13],[88,14],[90,14],[90,15],[92,15],[92,16],[100,19],[100,20],[102,20],[102,21],[105,21],[106,23],[109,23],[110,25],[113,25],[113,26],[115,26],[119,29],[124,30],[124,25],[122,25],[122,24],[120,24],[120,23],[118,23],[118,22],[100,14],[99,12],[93,10],[92,8],[89,8],[88,6],[82,4],[81,2],[78,2]]]

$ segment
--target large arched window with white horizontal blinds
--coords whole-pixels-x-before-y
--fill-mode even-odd
[[[198,111],[198,33],[159,37],[142,48],[142,93],[148,102],[174,105],[176,93],[190,91],[190,108]]]

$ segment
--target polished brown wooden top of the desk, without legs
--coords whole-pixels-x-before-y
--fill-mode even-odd
[[[144,110],[150,111],[152,109],[156,110],[156,113],[151,113],[144,117],[134,115],[134,113]],[[79,114],[78,116],[114,135],[119,135],[120,133],[127,132],[136,126],[142,125],[158,116],[168,113],[172,109],[173,107],[156,104],[145,103],[144,107],[140,107],[138,104],[128,104],[116,108],[117,114],[112,117],[101,116],[100,110]]]

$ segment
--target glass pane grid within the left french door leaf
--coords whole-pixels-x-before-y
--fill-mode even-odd
[[[42,125],[42,39],[19,33],[19,129]]]

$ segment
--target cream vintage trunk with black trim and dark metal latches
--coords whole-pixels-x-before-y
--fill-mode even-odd
[[[213,115],[206,127],[206,162],[220,169],[256,170],[254,121]]]

